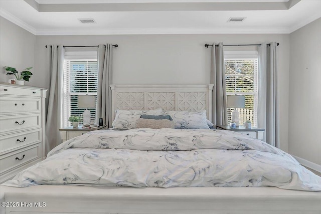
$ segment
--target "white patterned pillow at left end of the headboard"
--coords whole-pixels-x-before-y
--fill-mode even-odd
[[[140,118],[140,115],[162,115],[163,109],[157,108],[149,111],[142,110],[116,110],[116,116],[112,122],[112,127],[114,129],[133,129],[136,126],[136,121]]]

